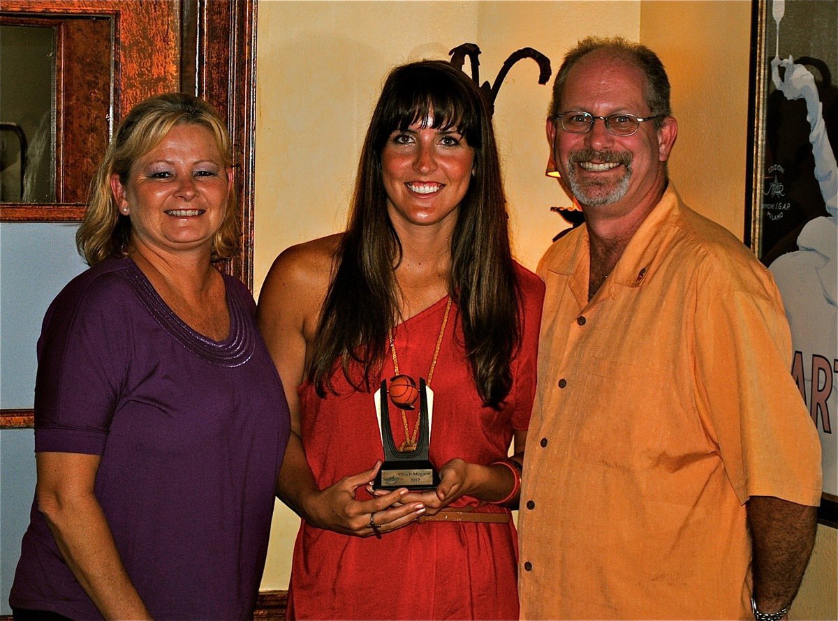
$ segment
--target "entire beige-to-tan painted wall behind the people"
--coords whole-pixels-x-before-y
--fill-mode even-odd
[[[742,238],[749,2],[292,2],[258,5],[255,284],[279,251],[344,227],[360,144],[395,64],[483,50],[480,79],[532,47],[554,70],[587,34],[655,49],[670,73],[679,138],[670,177],[687,203]],[[466,69],[468,70],[468,64]],[[495,103],[515,253],[535,268],[567,204],[544,177],[549,89],[522,60]],[[710,109],[708,106],[712,106]],[[712,114],[711,114],[712,113]],[[708,119],[713,119],[712,125]],[[723,203],[716,200],[723,198]],[[277,506],[262,588],[287,588],[296,516]],[[836,618],[835,531],[823,529],[794,618]],[[806,615],[806,616],[802,616]],[[826,615],[826,616],[824,616]],[[831,616],[829,616],[831,615]]]

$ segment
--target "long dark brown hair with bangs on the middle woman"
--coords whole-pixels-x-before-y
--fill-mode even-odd
[[[370,390],[396,323],[394,265],[401,243],[386,208],[381,153],[393,131],[432,117],[434,129],[456,127],[474,150],[473,178],[454,228],[448,292],[457,301],[475,386],[494,408],[512,387],[511,360],[520,344],[520,291],[510,251],[497,146],[477,85],[450,64],[426,60],[391,71],[361,151],[349,224],[339,245],[313,343],[308,379],[320,396],[334,392],[339,365],[356,389]],[[350,369],[360,363],[361,377]]]

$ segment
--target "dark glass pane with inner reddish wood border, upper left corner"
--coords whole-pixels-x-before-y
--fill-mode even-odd
[[[0,13],[0,201],[85,203],[111,131],[113,18]]]

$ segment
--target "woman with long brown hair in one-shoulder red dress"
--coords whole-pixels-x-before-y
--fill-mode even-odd
[[[277,493],[303,518],[291,618],[518,618],[510,508],[542,297],[510,253],[477,86],[442,61],[394,69],[348,228],[280,254],[259,301],[292,418]],[[396,446],[419,436],[396,376],[432,393],[436,489],[373,490],[382,381]]]

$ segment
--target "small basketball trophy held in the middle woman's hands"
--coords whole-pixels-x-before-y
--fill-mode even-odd
[[[396,448],[390,423],[390,410],[387,407],[388,394],[396,407],[402,410],[402,422],[405,425],[406,439]],[[414,408],[416,401],[416,383],[411,377],[397,375],[391,379],[390,393],[387,382],[381,382],[375,391],[375,412],[381,433],[381,446],[384,449],[384,463],[375,475],[373,486],[376,490],[397,490],[406,487],[409,490],[433,490],[439,485],[439,475],[434,469],[428,451],[431,439],[431,412],[433,393],[422,377],[419,378],[418,401],[419,415],[413,433],[408,437],[405,410]]]

